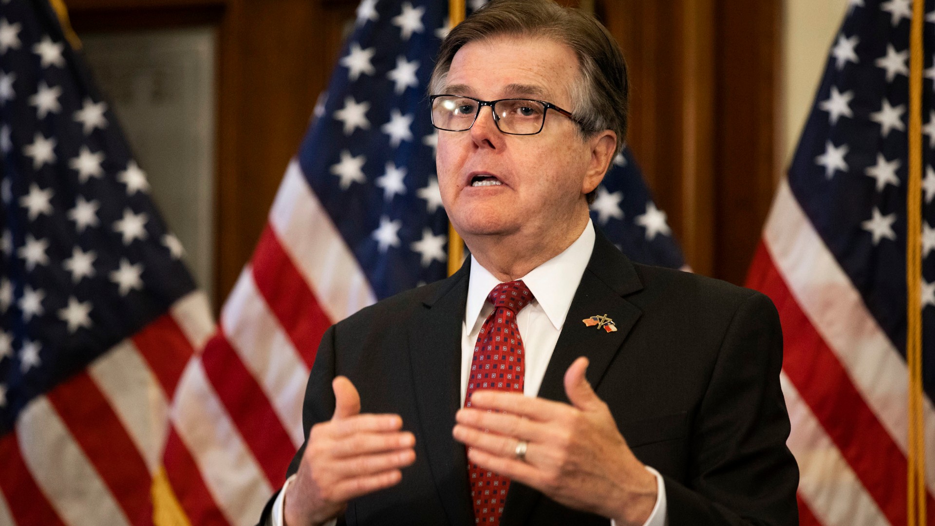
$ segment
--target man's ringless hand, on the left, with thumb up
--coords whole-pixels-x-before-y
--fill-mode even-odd
[[[335,415],[309,432],[298,475],[284,502],[289,526],[322,524],[343,513],[347,502],[402,479],[399,468],[415,461],[415,436],[398,415],[361,415],[360,396],[338,376]]]

